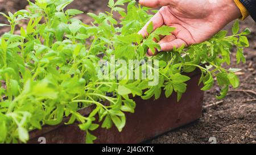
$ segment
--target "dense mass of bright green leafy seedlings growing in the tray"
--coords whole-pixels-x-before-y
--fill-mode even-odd
[[[91,26],[72,18],[82,11],[65,7],[72,0],[36,0],[29,2],[28,11],[21,10],[7,18],[10,32],[0,39],[0,143],[26,143],[28,132],[42,129],[44,124],[57,125],[64,117],[65,124],[79,122],[86,132],[86,143],[93,143],[96,136],[90,131],[99,127],[109,129],[113,125],[121,132],[125,126],[124,112],[134,112],[133,97],[158,99],[162,90],[166,97],[176,92],[178,100],[187,89],[190,78],[182,73],[201,70],[199,83],[202,90],[214,85],[214,78],[222,87],[217,98],[224,98],[229,86],[239,86],[234,74],[238,69],[223,68],[230,64],[230,51],[237,47],[237,62],[245,62],[243,48],[249,47],[246,35],[248,29],[239,33],[239,24],[233,27],[233,35],[226,31],[217,33],[212,39],[191,47],[162,52],[154,57],[145,57],[148,48],[159,48],[153,39],[159,35],[170,35],[175,28],[163,26],[146,38],[138,31],[152,17],[146,7],[132,0],[110,0],[110,11],[98,15],[89,13],[94,19]],[[123,5],[127,3],[127,10]],[[118,12],[120,19],[114,19]],[[18,23],[26,23],[18,27]],[[15,30],[19,30],[19,35]],[[158,85],[151,86],[150,78],[143,79],[101,79],[97,73],[102,66],[99,61],[146,60],[137,66],[150,67],[150,61],[158,60]],[[122,66],[115,63],[114,72]],[[126,66],[128,67],[128,66]],[[134,72],[134,67],[132,70]],[[111,76],[108,73],[106,76]],[[78,111],[94,105],[89,115]]]

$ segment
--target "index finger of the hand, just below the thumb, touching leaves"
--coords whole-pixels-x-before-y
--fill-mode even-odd
[[[143,37],[146,37],[146,36],[148,35],[148,33],[147,33],[148,24],[150,24],[151,22],[153,23],[154,31],[155,31],[156,28],[163,26],[164,20],[163,20],[162,14],[160,14],[160,12],[157,12],[157,13],[150,19],[150,21],[147,22],[147,24],[142,28],[142,30],[139,31],[138,33],[139,33],[140,35],[142,35]]]

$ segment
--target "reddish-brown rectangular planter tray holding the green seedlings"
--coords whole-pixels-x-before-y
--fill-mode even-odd
[[[135,98],[135,113],[126,114],[123,131],[118,132],[114,126],[111,129],[98,128],[92,132],[97,136],[94,143],[142,143],[199,119],[204,99],[204,92],[200,90],[201,86],[198,86],[201,74],[193,72],[188,76],[191,80],[187,82],[187,91],[180,102],[177,102],[175,93],[170,98],[164,97],[163,94],[158,100]],[[88,107],[80,112],[82,115],[88,115],[93,108]],[[47,144],[85,143],[86,133],[79,129],[77,123],[65,125],[64,122],[67,121],[68,118],[65,118],[63,124],[45,125],[42,130],[31,131],[28,143],[41,143],[42,137]]]

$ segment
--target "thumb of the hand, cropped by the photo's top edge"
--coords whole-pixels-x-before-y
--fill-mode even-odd
[[[139,0],[139,3],[146,7],[160,7],[171,5],[171,1],[173,0]]]

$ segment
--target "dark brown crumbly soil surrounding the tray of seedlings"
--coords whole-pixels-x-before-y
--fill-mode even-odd
[[[85,12],[104,12],[108,0],[75,0],[70,8],[80,9]],[[27,5],[25,0],[0,0],[0,11],[14,12],[24,9]],[[90,23],[91,19],[85,14],[76,18]],[[5,20],[0,17],[0,23]],[[226,30],[231,30],[232,24]],[[246,64],[237,65],[234,58],[230,67],[241,68],[238,72],[241,86],[236,91],[230,91],[223,100],[217,100],[215,95],[220,88],[214,87],[205,93],[203,115],[194,123],[168,132],[148,143],[210,143],[209,139],[216,143],[255,143],[256,144],[256,24],[251,18],[241,22],[241,27],[249,27],[252,31],[249,36],[250,48],[245,49]],[[0,28],[0,34],[8,31],[8,28]]]

